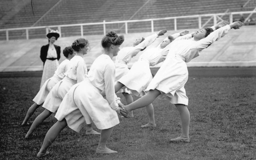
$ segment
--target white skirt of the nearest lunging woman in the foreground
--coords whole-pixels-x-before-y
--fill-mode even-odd
[[[93,122],[100,130],[119,124],[116,111],[102,97],[101,90],[94,87],[88,78],[68,91],[55,118],[59,121],[65,118],[68,126],[76,132],[81,130],[84,123]]]

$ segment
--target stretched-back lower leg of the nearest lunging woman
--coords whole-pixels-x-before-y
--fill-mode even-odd
[[[57,121],[46,133],[44,142],[39,150],[40,153],[46,153],[48,147],[55,141],[60,132],[67,126],[67,121],[64,118],[62,121]]]

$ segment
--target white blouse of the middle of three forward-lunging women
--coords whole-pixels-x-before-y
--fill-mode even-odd
[[[77,83],[83,81],[87,75],[87,67],[84,59],[81,56],[74,56],[68,65],[68,70],[64,73],[64,75],[77,81]]]

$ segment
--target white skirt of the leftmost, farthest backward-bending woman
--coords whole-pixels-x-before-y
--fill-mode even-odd
[[[128,72],[129,72],[129,68],[126,64],[115,62],[115,82],[117,82],[121,77],[123,77]],[[132,94],[132,92],[127,90],[125,86],[122,87],[117,93],[123,93],[123,92]]]

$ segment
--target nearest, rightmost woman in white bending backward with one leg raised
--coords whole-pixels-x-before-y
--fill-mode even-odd
[[[148,93],[126,105],[125,110],[120,110],[123,116],[128,112],[142,108],[151,104],[156,97],[169,100],[175,104],[180,114],[182,125],[182,134],[180,137],[171,139],[171,142],[190,142],[189,139],[189,121],[190,114],[187,108],[188,98],[184,85],[188,80],[188,70],[186,62],[199,56],[199,53],[207,48],[214,41],[223,37],[231,28],[238,29],[243,26],[242,22],[234,22],[230,25],[221,27],[211,32],[211,29],[202,29],[193,34],[193,40],[177,40],[170,43],[164,50],[168,50],[168,56],[163,65],[159,68],[156,75],[147,87]],[[209,34],[210,33],[210,34]]]

